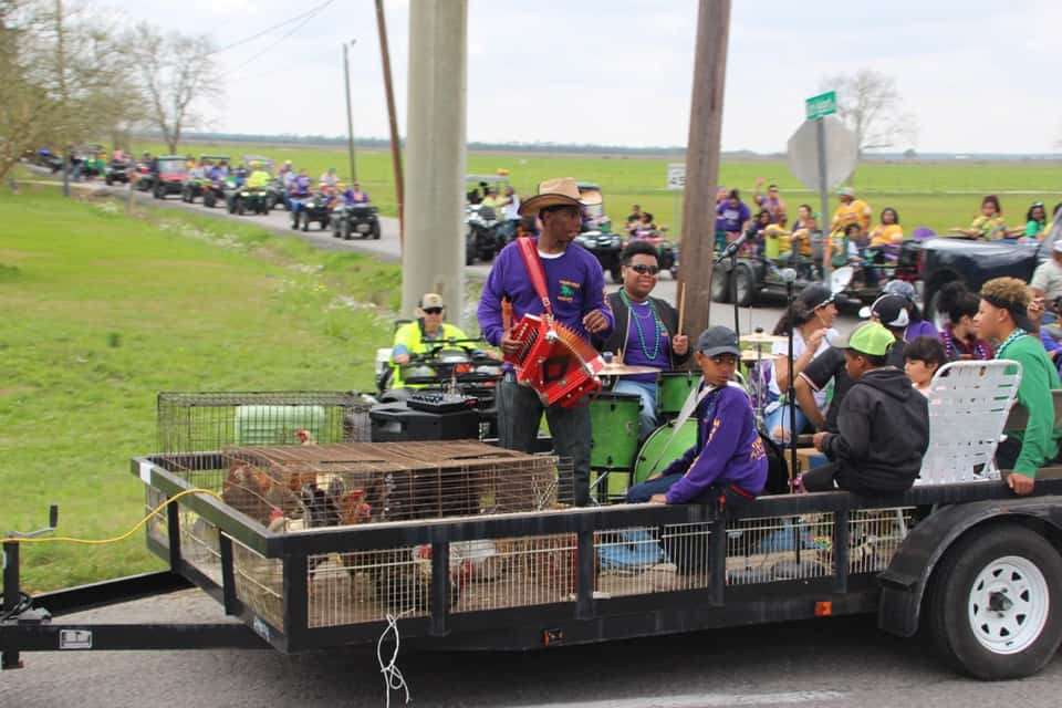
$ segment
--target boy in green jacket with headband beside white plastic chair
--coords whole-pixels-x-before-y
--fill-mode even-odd
[[[1017,278],[995,278],[981,288],[981,305],[974,317],[978,337],[1001,344],[996,358],[1021,364],[1018,403],[1029,412],[1022,433],[1011,433],[996,450],[996,465],[1012,469],[1007,483],[1018,494],[1030,494],[1037,469],[1059,455],[1062,431],[1055,429],[1054,399],[1051,391],[1062,388],[1059,372],[1035,336],[1035,327],[1025,314],[1029,288]]]

